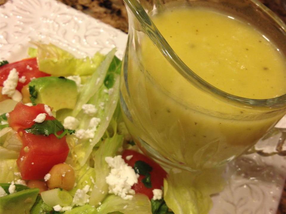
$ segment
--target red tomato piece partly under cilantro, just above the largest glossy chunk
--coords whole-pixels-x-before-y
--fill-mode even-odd
[[[30,128],[35,124],[33,120],[41,113],[46,113],[44,104],[26,106],[19,102],[14,110],[9,113],[8,123],[15,131],[18,131],[19,128]],[[55,117],[51,117],[48,114],[46,115],[46,120],[53,119],[55,119]]]

